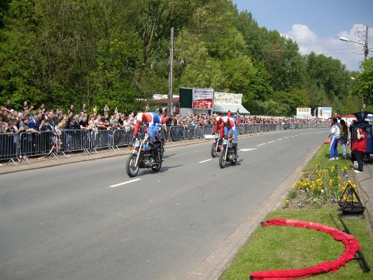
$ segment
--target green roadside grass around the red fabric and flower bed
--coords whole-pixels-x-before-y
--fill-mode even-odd
[[[323,167],[337,165],[352,168],[350,160],[329,161],[329,146],[323,145],[314,158],[304,169],[313,169],[316,163]],[[270,218],[292,218],[300,221],[322,223],[332,228],[344,230],[342,223],[337,218],[339,207],[322,209],[279,209],[270,213],[265,221]],[[335,218],[337,225],[330,217]],[[368,265],[373,265],[372,232],[367,218],[363,220],[344,219],[351,234],[358,239],[361,251]],[[246,246],[241,248],[232,264],[220,277],[221,280],[247,280],[252,272],[267,269],[299,269],[317,265],[325,261],[336,260],[344,252],[342,242],[335,241],[332,236],[304,228],[259,226],[248,239]],[[363,272],[357,260],[350,260],[346,267],[341,267],[336,273],[328,272],[312,276],[313,280],[320,279],[357,279],[371,280],[373,272]]]

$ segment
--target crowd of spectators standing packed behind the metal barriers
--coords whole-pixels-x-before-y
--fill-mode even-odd
[[[29,106],[25,101],[22,111],[15,111],[8,100],[5,106],[1,106],[0,114],[0,132],[20,133],[22,131],[55,131],[55,130],[131,130],[134,128],[134,112],[125,115],[118,112],[118,108],[111,111],[108,105],[99,111],[97,106],[94,106],[92,113],[87,113],[87,106],[82,104],[80,109],[76,110],[73,104],[69,110],[64,113],[62,109],[46,109],[44,104],[41,104],[38,109],[34,106]],[[215,124],[218,113],[213,113],[209,116],[206,113],[185,113],[181,116],[174,113],[174,118],[171,125],[177,126],[204,126]],[[265,117],[265,116],[246,116],[236,115],[240,124],[299,124],[299,123],[323,123],[325,120],[317,118],[293,119],[281,117]]]

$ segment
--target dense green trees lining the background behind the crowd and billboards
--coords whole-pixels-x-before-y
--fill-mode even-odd
[[[274,116],[300,106],[358,108],[347,101],[357,73],[338,59],[300,55],[296,42],[259,27],[232,0],[4,0],[0,104],[141,110],[168,92],[171,27],[174,92],[242,93],[251,113]],[[372,80],[372,63],[364,67],[356,77]],[[372,92],[352,92],[372,104]]]

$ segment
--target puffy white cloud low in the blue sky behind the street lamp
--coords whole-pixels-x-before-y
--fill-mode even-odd
[[[320,38],[307,25],[293,25],[292,29],[283,36],[296,41],[302,55],[308,55],[311,52],[323,54],[339,59],[349,70],[359,71],[359,64],[364,59],[363,45],[358,44],[364,43],[362,38],[365,38],[363,37],[365,33],[362,31],[365,31],[365,26],[356,24],[350,31],[339,32],[337,38]],[[341,36],[358,43],[341,41],[339,40]]]

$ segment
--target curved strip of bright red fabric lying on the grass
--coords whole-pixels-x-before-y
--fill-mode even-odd
[[[274,218],[263,226],[267,227],[269,225],[281,225],[281,226],[291,226],[299,228],[311,228],[314,230],[319,230],[328,235],[332,235],[335,240],[341,241],[346,249],[342,255],[339,255],[337,260],[330,262],[322,262],[314,267],[306,267],[303,269],[287,269],[287,270],[265,270],[262,272],[253,272],[250,274],[250,279],[253,280],[290,280],[290,279],[302,279],[316,274],[321,274],[325,272],[337,272],[339,267],[344,266],[346,262],[352,260],[356,254],[356,251],[360,249],[358,241],[352,235],[342,232],[337,228],[330,228],[327,225],[322,225],[321,223],[309,223],[303,221],[296,221],[291,219],[278,219]]]

